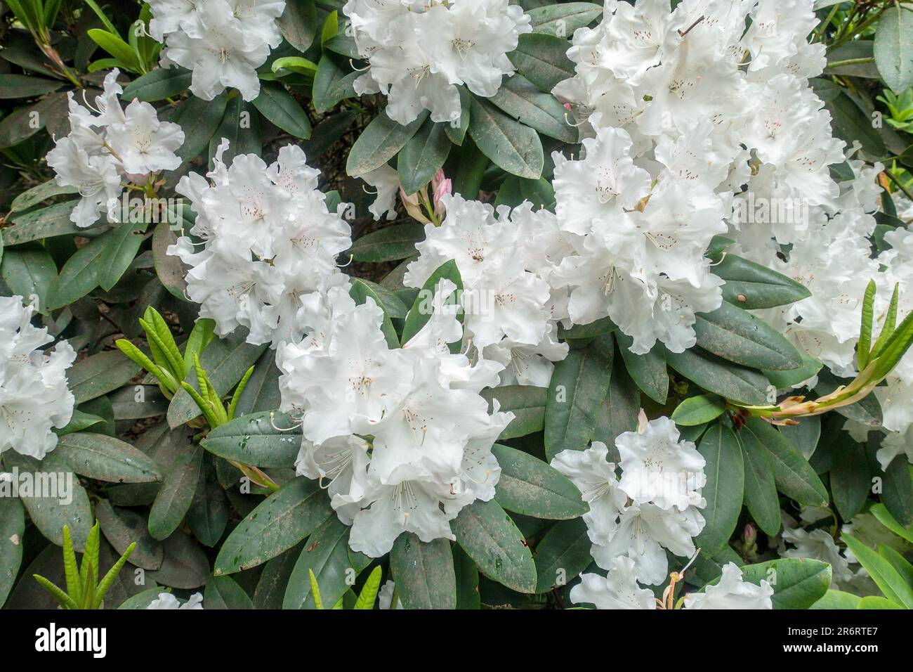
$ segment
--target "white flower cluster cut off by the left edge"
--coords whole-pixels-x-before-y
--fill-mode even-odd
[[[67,368],[76,353],[67,341],[41,350],[54,338],[31,324],[35,306],[21,296],[0,296],[0,453],[42,459],[57,446],[52,429],[73,415]]]

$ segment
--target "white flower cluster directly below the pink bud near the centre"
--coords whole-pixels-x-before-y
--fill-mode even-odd
[[[425,224],[416,261],[404,276],[421,287],[445,261],[456,261],[463,281],[467,349],[478,361],[504,367],[502,384],[547,387],[551,362],[567,355],[558,323],[567,316],[567,292],[549,283],[554,263],[569,249],[555,216],[524,203],[511,212],[460,196],[444,196],[446,218]]]

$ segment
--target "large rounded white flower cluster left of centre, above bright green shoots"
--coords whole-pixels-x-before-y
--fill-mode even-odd
[[[320,171],[297,145],[271,165],[257,155],[225,165],[227,148],[223,139],[209,181],[191,174],[178,183],[197,213],[189,233],[202,242],[184,235],[168,253],[191,267],[187,293],[220,336],[241,325],[249,343],[300,340],[323,324],[326,293],[348,282],[336,265],[352,244],[346,206],[328,209]]]

